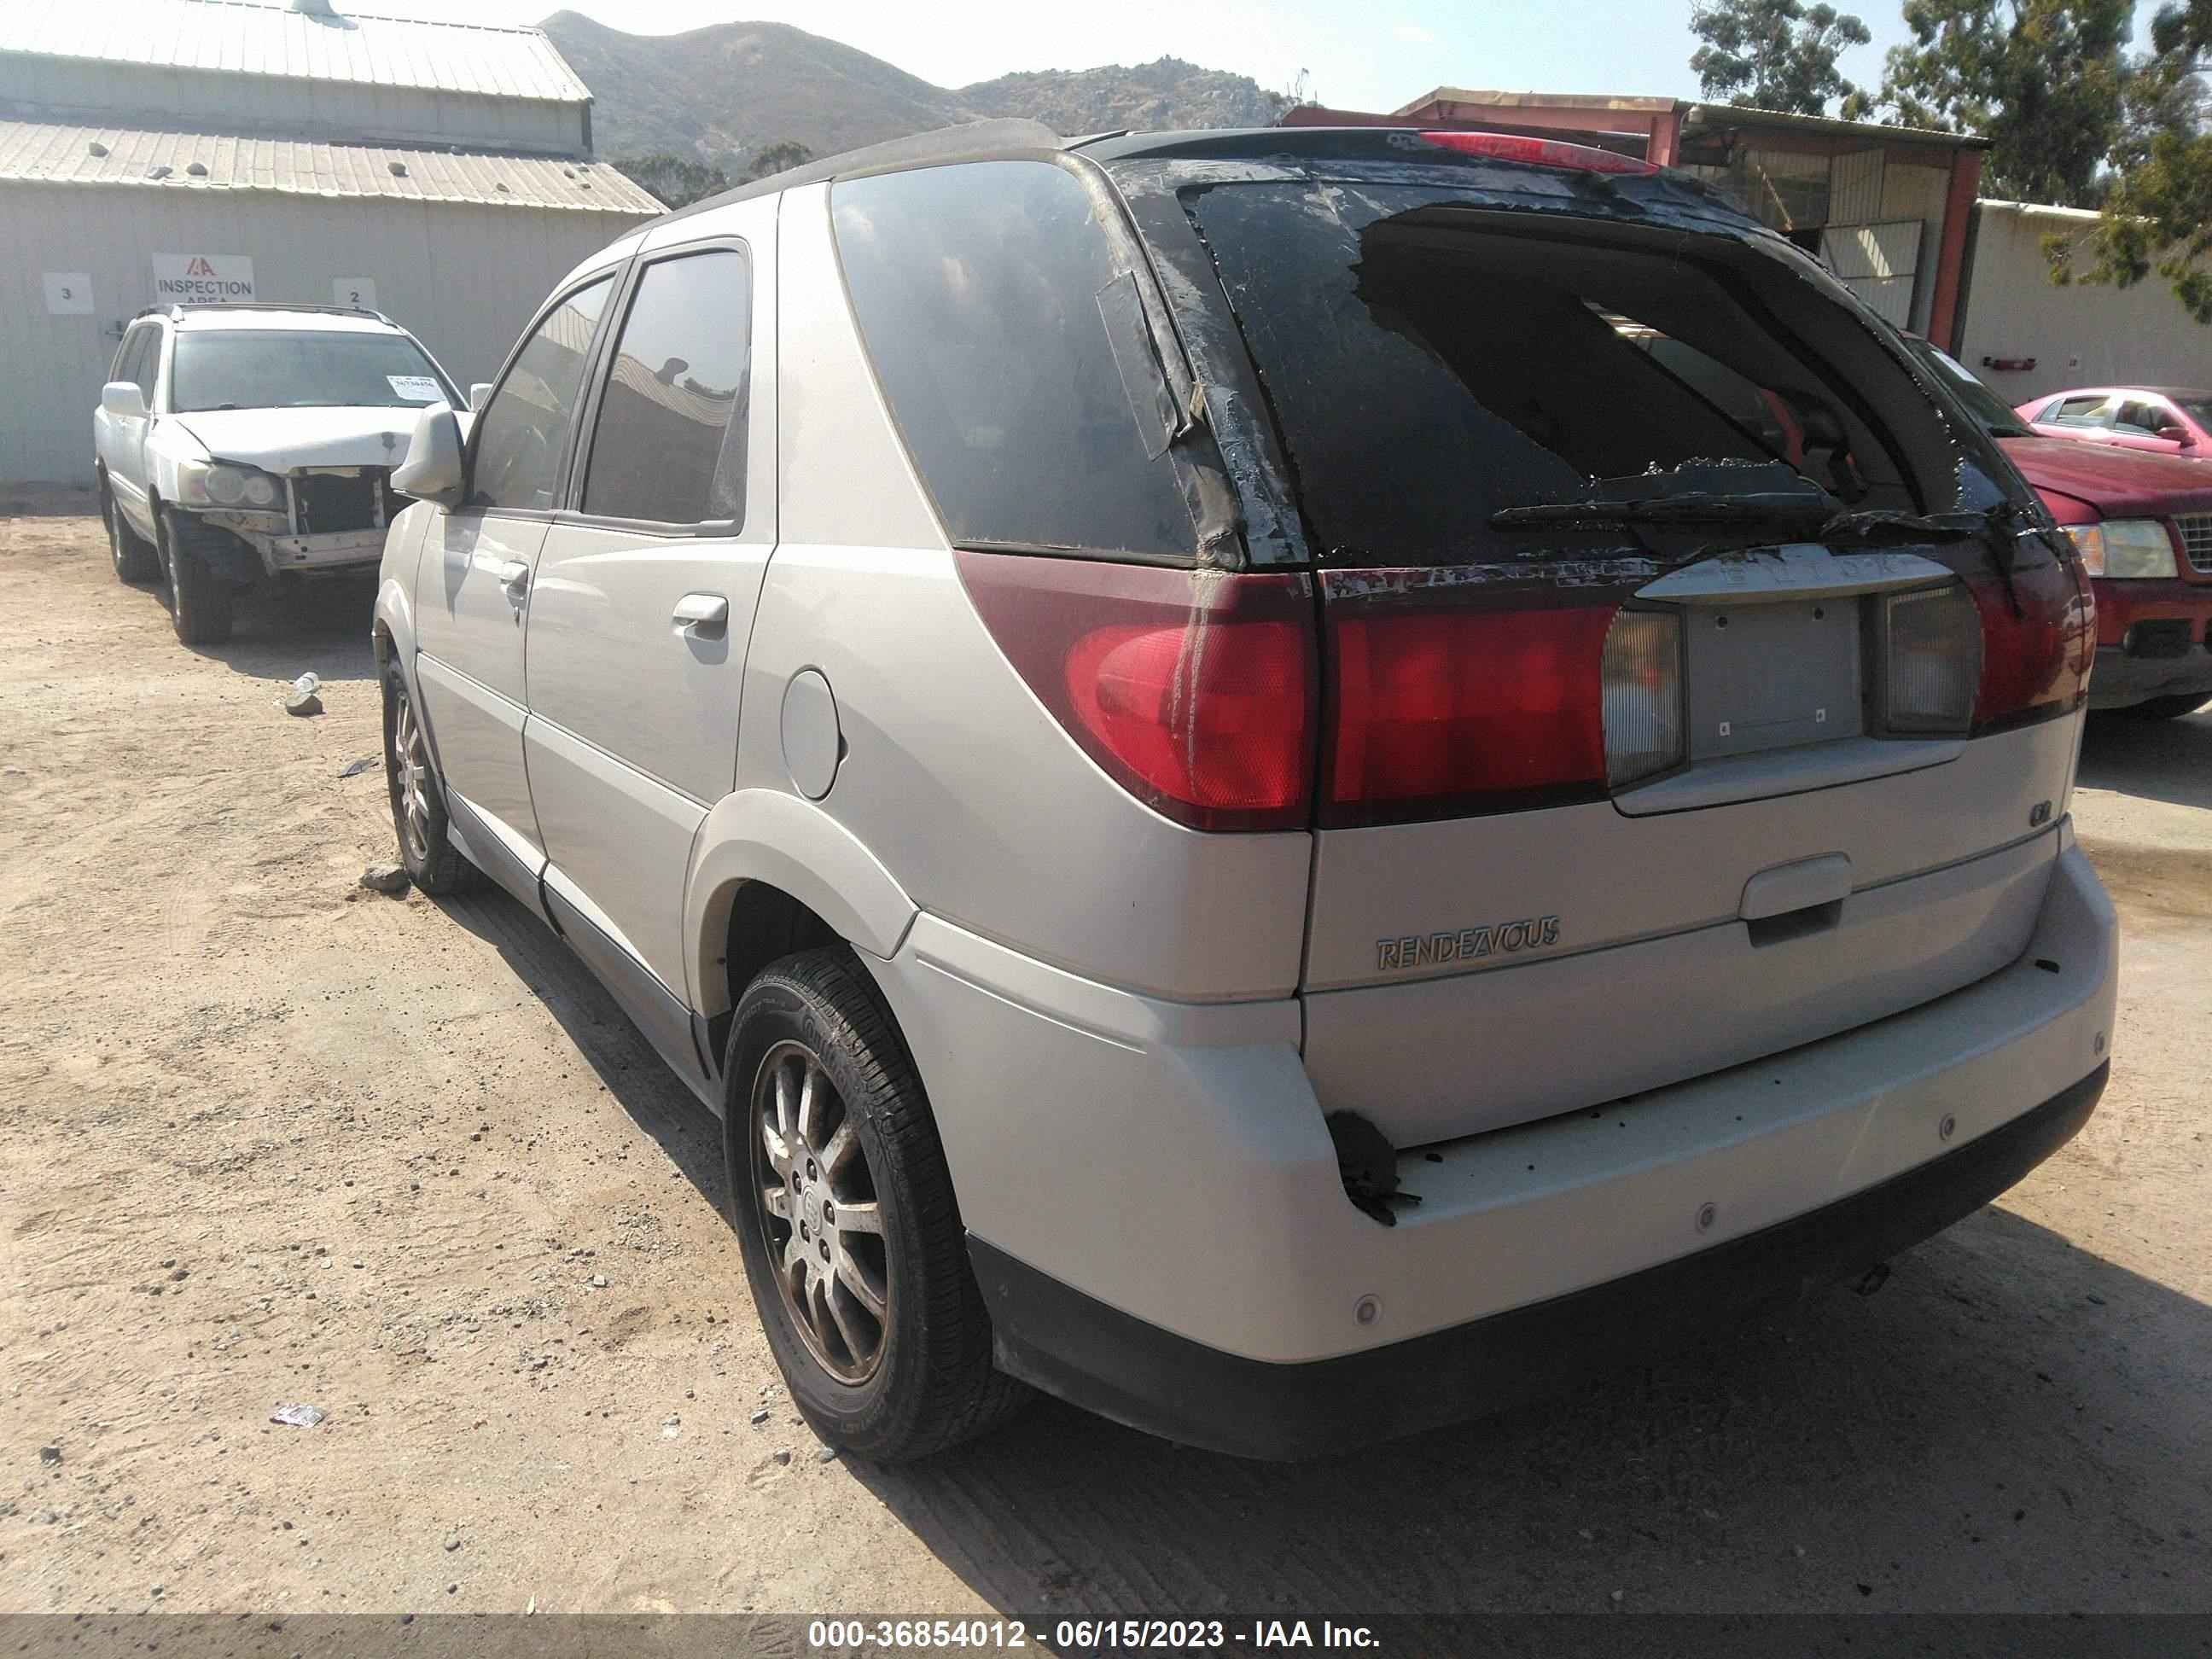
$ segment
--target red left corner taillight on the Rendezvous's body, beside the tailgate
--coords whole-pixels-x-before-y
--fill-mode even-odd
[[[953,557],[1006,661],[1121,787],[1197,830],[1307,825],[1310,577]]]

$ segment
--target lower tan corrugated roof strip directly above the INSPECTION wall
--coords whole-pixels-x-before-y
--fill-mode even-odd
[[[633,217],[664,210],[646,190],[599,161],[0,119],[0,181],[9,179],[478,201]]]

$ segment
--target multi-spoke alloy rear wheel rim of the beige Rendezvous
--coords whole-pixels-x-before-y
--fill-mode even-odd
[[[779,1042],[752,1082],[752,1188],[783,1307],[838,1383],[867,1383],[891,1318],[883,1208],[821,1055]]]

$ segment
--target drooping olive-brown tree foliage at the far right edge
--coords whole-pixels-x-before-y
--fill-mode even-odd
[[[2199,73],[2212,60],[2212,0],[2159,11],[2150,29],[2152,58],[2128,84],[2119,135],[2119,173],[2104,197],[2104,217],[2086,237],[2088,270],[2073,270],[2064,237],[2044,243],[2051,281],[2132,288],[2152,272],[2199,323],[2212,323],[2212,135],[2203,131]]]

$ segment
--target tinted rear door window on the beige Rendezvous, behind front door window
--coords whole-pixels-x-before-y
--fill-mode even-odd
[[[599,398],[586,513],[661,524],[745,515],[750,334],[745,254],[646,265]]]

